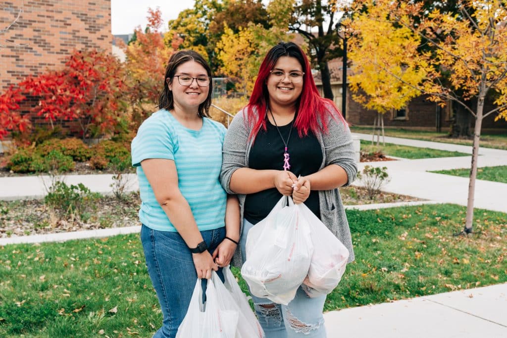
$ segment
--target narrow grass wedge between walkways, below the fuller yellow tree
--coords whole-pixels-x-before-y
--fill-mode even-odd
[[[404,159],[411,160],[469,155],[459,152],[448,152],[439,149],[420,148],[392,143],[386,143],[385,145],[380,143],[380,145],[377,146],[376,144],[372,144],[371,141],[367,140],[361,140],[361,152],[367,153],[381,152],[382,154],[387,156],[402,157]]]

